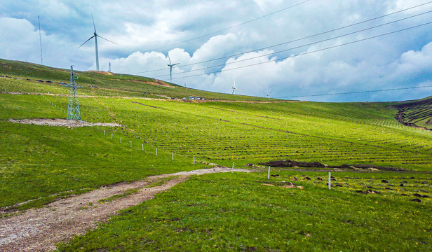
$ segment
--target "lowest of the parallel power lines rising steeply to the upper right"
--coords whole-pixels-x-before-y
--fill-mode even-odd
[[[314,53],[314,52],[320,52],[320,51],[323,51],[323,50],[329,50],[329,49],[332,49],[332,48],[338,48],[338,47],[341,47],[343,45],[350,45],[350,44],[358,43],[358,42],[361,42],[361,41],[367,41],[367,40],[370,40],[372,38],[379,38],[381,36],[395,34],[395,33],[398,33],[400,31],[407,31],[409,29],[414,29],[414,28],[417,28],[417,27],[422,27],[422,26],[431,25],[431,24],[432,24],[432,22],[426,22],[426,23],[421,24],[421,25],[416,25],[416,26],[413,26],[413,27],[405,28],[405,29],[399,29],[397,31],[391,31],[391,32],[387,32],[385,34],[379,34],[377,36],[371,36],[369,38],[362,38],[362,39],[357,40],[357,41],[351,41],[351,42],[342,43],[342,44],[339,44],[339,45],[333,45],[333,46],[330,46],[328,48],[322,48],[322,49],[313,50],[313,51],[309,51],[309,52],[303,52],[303,53],[299,53],[297,55],[290,55],[288,57],[281,57],[280,59],[271,59],[271,60],[266,61],[266,62],[259,62],[259,63],[255,63],[255,64],[248,64],[248,65],[245,65],[245,66],[237,66],[237,67],[234,67],[234,68],[231,68],[231,69],[221,69],[220,71],[213,71],[213,72],[210,72],[210,73],[219,73],[219,72],[222,72],[222,71],[231,71],[231,70],[235,70],[235,69],[242,69],[242,68],[245,68],[245,67],[248,67],[248,66],[257,66],[259,64],[266,64],[266,63],[269,63],[269,62],[276,62],[276,61],[282,60],[282,59],[289,59],[289,58],[292,58],[292,57],[298,57],[298,56],[302,56],[302,55],[309,55],[309,54]],[[177,78],[173,78],[173,79],[176,80],[176,79],[180,79],[180,78],[189,78],[189,77],[195,77],[195,76],[203,76],[203,75],[208,75],[210,73],[199,73],[199,74],[195,74],[195,75],[191,75],[191,76],[183,76],[183,77],[177,77]]]

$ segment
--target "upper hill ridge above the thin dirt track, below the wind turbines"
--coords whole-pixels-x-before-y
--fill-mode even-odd
[[[79,75],[77,83],[83,88],[81,95],[111,97],[146,97],[155,99],[183,99],[201,97],[229,101],[280,101],[262,97],[223,94],[196,90],[154,78],[104,71],[74,71]],[[3,76],[3,77],[1,77]],[[10,77],[10,78],[7,78]],[[58,69],[28,62],[0,59],[0,90],[6,92],[50,92],[68,94],[61,83],[69,83],[69,69]],[[32,85],[29,85],[32,84]],[[229,91],[229,90],[228,90]]]

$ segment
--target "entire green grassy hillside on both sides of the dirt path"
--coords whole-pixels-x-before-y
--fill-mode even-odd
[[[79,101],[82,119],[122,127],[24,125],[8,119],[66,118],[68,100],[60,94],[68,91],[56,83],[67,83],[69,71],[1,60],[0,74],[5,76],[0,77],[0,90],[6,89],[0,94],[0,207],[27,200],[18,208],[41,207],[99,186],[210,163],[245,167],[297,160],[399,169],[372,174],[351,169],[337,175],[346,181],[331,192],[313,180],[299,182],[306,190],[288,193],[280,185],[301,176],[299,172],[277,170],[281,177],[270,181],[275,187],[257,182],[266,178],[265,172],[200,176],[125,211],[63,251],[431,248],[432,201],[410,202],[400,195],[424,190],[432,197],[432,132],[398,123],[399,111],[392,103],[264,103],[269,99],[191,90],[140,76],[79,72],[79,92],[86,95]],[[217,101],[149,99],[190,95]],[[412,180],[400,190],[400,181],[410,177],[425,183]],[[386,186],[390,189],[380,185],[382,179],[393,180]],[[356,193],[365,186],[379,193]],[[220,196],[202,196],[211,194]],[[180,214],[189,205],[196,207]],[[257,234],[260,229],[268,239]],[[405,234],[410,237],[400,238]],[[376,244],[368,244],[370,237]],[[166,246],[172,241],[178,243]]]

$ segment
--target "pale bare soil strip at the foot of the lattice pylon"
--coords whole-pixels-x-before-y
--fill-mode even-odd
[[[58,127],[86,127],[86,126],[105,126],[105,127],[122,127],[118,123],[89,123],[86,121],[76,121],[76,120],[66,120],[60,118],[47,119],[47,118],[34,118],[34,119],[22,119],[14,120],[8,119],[11,123],[22,123],[31,125],[48,125],[48,126],[58,126]]]

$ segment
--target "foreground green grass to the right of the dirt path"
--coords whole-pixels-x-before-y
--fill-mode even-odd
[[[332,173],[344,187],[326,189],[325,173],[281,172],[194,176],[112,216],[97,230],[59,251],[430,251],[432,202],[410,202],[415,190],[431,195],[431,176]],[[283,188],[292,181],[304,189]],[[406,177],[415,176],[416,179]],[[354,179],[358,177],[358,179]],[[374,177],[374,178],[372,178]],[[390,183],[407,180],[409,196]],[[368,182],[370,181],[370,182]],[[417,182],[427,181],[428,185]],[[273,183],[276,186],[266,186]],[[350,186],[351,184],[351,186]],[[381,194],[360,194],[374,186]],[[388,186],[388,184],[386,184]]]

